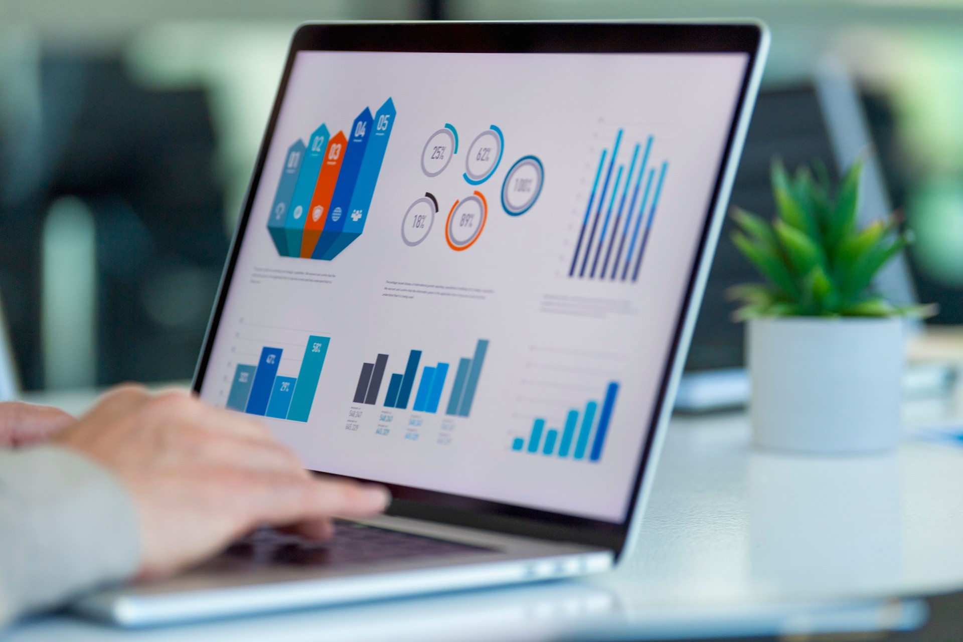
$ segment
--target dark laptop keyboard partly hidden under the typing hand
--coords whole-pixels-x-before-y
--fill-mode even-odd
[[[483,552],[492,551],[338,520],[334,523],[334,535],[320,542],[261,528],[232,544],[205,566],[219,570],[265,565],[341,567]]]

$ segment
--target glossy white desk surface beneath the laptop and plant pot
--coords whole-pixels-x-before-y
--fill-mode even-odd
[[[613,617],[959,589],[963,449],[911,431],[961,416],[959,391],[908,403],[907,438],[870,457],[753,451],[741,413],[676,417],[636,552],[603,577],[133,633],[58,616],[8,639],[554,639]]]

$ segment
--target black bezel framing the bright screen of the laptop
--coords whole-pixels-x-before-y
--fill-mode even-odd
[[[685,355],[679,354],[685,321],[693,304],[700,266],[706,261],[706,249],[713,214],[723,187],[738,125],[746,109],[753,69],[757,64],[763,29],[754,23],[658,23],[658,22],[349,22],[308,23],[295,32],[284,73],[274,98],[271,117],[257,155],[247,188],[244,209],[239,218],[234,240],[221,275],[211,321],[204,338],[195,371],[193,390],[199,394],[207,372],[214,338],[221,322],[224,302],[234,276],[254,193],[261,180],[268,149],[281,103],[287,91],[295,58],[300,51],[372,51],[429,53],[743,53],[747,63],[742,86],[730,123],[728,135],[716,173],[709,207],[704,215],[702,232],[696,248],[686,294],[675,321],[675,331],[665,360],[657,398],[648,422],[648,432],[634,487],[624,521],[605,522],[585,517],[537,510],[498,501],[484,501],[464,496],[429,491],[401,484],[386,484],[395,501],[388,512],[393,515],[424,519],[456,526],[470,526],[545,539],[575,542],[611,549],[621,553],[638,504],[642,475],[651,458],[657,426],[664,411],[673,364]],[[697,305],[697,302],[694,302]]]

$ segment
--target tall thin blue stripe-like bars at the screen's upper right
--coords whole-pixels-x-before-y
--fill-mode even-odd
[[[618,129],[599,155],[568,276],[635,282],[663,193],[668,161],[652,160],[654,137],[625,143]]]

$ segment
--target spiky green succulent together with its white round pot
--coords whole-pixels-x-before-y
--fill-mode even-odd
[[[747,321],[749,414],[758,448],[846,453],[892,449],[899,433],[903,320],[873,276],[909,238],[895,221],[860,226],[863,161],[831,193],[824,167],[772,164],[776,216],[734,208],[733,243],[765,278],[736,286]]]

